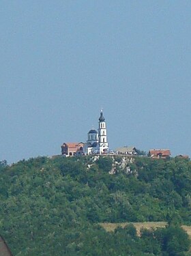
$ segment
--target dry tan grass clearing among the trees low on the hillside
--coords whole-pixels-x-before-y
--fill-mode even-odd
[[[126,227],[128,224],[133,224],[136,227],[136,232],[138,236],[140,235],[141,228],[144,229],[156,229],[157,227],[165,227],[167,225],[164,221],[159,222],[145,222],[145,223],[100,223],[100,225],[106,229],[106,231],[114,231],[117,227]],[[181,226],[191,238],[191,226],[182,225]]]

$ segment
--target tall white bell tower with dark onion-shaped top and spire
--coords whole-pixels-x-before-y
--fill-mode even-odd
[[[100,147],[100,154],[106,153],[108,151],[108,142],[107,142],[106,122],[105,122],[103,111],[101,111],[100,118],[99,118],[98,143]]]

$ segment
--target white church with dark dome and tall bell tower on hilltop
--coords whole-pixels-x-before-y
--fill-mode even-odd
[[[98,122],[98,130],[91,129],[87,134],[87,142],[84,143],[85,154],[106,154],[108,152],[107,130],[104,113],[101,111]]]

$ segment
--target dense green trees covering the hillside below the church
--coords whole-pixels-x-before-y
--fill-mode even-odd
[[[112,165],[89,156],[0,162],[0,232],[14,255],[184,255],[190,240],[178,225],[191,225],[190,160],[136,157],[114,175]],[[127,221],[169,226],[138,237],[132,225],[111,233],[98,225]]]

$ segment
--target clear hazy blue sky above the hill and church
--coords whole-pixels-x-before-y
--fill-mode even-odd
[[[1,1],[0,160],[86,141],[191,150],[191,1]]]

